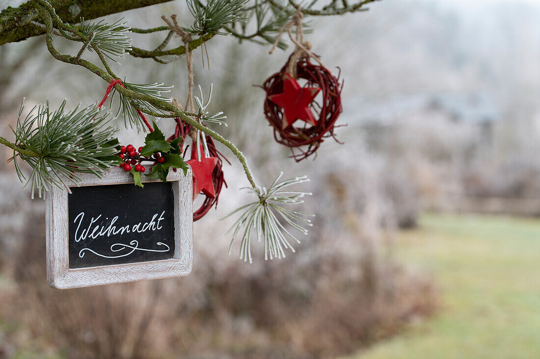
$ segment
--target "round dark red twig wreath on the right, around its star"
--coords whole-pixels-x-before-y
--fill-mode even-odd
[[[320,87],[321,89],[320,95],[310,104],[310,108],[318,120],[315,126],[301,121],[300,126],[293,124],[282,128],[282,109],[268,96],[283,92],[284,77],[293,55],[289,57],[285,66],[267,78],[261,87],[266,91],[264,111],[266,119],[274,127],[274,138],[278,143],[291,147],[292,157],[298,162],[315,153],[325,138],[331,136],[338,141],[334,134],[334,127],[342,112],[341,89],[343,82],[339,82],[339,74],[338,77],[335,77],[326,67],[311,63],[308,56],[300,57],[296,62],[296,78],[307,81],[303,87]],[[296,121],[296,124],[299,123],[300,121]]]

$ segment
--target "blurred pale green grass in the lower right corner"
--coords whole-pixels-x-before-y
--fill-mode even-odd
[[[426,215],[395,250],[433,276],[441,307],[352,358],[540,358],[540,220]]]

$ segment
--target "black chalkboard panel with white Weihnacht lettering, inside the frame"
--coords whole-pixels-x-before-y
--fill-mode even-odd
[[[68,194],[69,267],[173,258],[172,182],[72,188]]]

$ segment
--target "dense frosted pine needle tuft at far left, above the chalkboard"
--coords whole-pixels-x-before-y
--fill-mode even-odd
[[[39,197],[51,186],[65,186],[60,174],[79,181],[77,173],[93,173],[100,177],[106,168],[117,164],[119,157],[114,134],[118,128],[108,125],[110,113],[92,105],[79,110],[65,111],[66,100],[59,109],[51,111],[49,103],[34,107],[22,119],[24,103],[19,110],[14,148],[15,169],[21,181],[25,180],[18,157],[32,167],[26,185],[35,188]],[[36,111],[37,110],[37,111]]]

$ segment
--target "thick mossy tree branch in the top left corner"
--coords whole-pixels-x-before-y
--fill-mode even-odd
[[[74,24],[81,17],[90,20],[168,1],[171,0],[51,0],[50,3],[62,21]],[[45,33],[31,24],[38,17],[37,6],[36,0],[30,0],[18,8],[0,11],[0,45]]]

